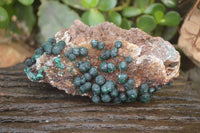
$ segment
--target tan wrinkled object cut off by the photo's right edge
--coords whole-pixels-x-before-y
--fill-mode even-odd
[[[189,19],[190,17],[190,19]],[[196,8],[185,18],[180,30],[178,46],[200,67],[200,10]]]

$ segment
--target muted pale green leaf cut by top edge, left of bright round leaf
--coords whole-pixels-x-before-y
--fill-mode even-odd
[[[62,0],[65,4],[72,6],[77,9],[86,10],[86,8],[82,5],[81,0]]]

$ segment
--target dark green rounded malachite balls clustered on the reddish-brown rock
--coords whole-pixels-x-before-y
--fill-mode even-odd
[[[92,101],[94,103],[121,103],[121,102],[135,102],[141,101],[147,103],[150,101],[151,96],[158,90],[161,89],[161,86],[150,87],[148,83],[143,83],[140,88],[134,88],[134,79],[128,77],[127,74],[123,73],[129,68],[129,63],[132,62],[132,57],[127,56],[124,58],[124,61],[121,61],[118,66],[115,66],[112,62],[106,62],[110,58],[116,58],[118,56],[118,50],[123,47],[121,41],[116,41],[114,43],[113,49],[105,49],[105,43],[98,41],[96,39],[91,40],[90,42],[92,48],[102,51],[99,57],[101,62],[99,68],[91,65],[90,61],[77,61],[76,67],[82,73],[82,76],[74,77],[73,83],[76,86],[79,93],[93,93]],[[37,58],[39,58],[43,53],[47,55],[59,55],[65,47],[64,41],[59,41],[56,43],[54,38],[48,39],[42,44],[42,47],[35,50],[35,54],[32,58],[29,58],[25,61],[26,68],[24,72],[27,76],[33,81],[42,80],[44,78],[43,69],[39,69],[37,72],[31,70],[31,66],[36,63]],[[65,54],[65,57],[68,58],[71,62],[75,62],[76,58],[87,57],[88,49],[85,47],[74,47],[69,49]],[[62,64],[60,57],[57,56],[54,58],[54,63],[56,67],[64,69],[65,66]],[[44,69],[47,69],[45,66]],[[120,70],[120,74],[116,77],[118,82],[115,83],[112,80],[106,80],[103,75],[100,74],[98,69],[103,73],[114,73],[116,69]],[[123,84],[126,91],[120,92],[116,88],[116,84]]]

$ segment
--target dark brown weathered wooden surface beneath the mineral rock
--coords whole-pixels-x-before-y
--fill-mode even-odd
[[[30,82],[23,68],[0,69],[0,132],[200,132],[200,88],[184,77],[147,104],[97,105]]]

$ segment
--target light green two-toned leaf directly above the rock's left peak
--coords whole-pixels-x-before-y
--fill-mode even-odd
[[[90,9],[89,11],[84,12],[81,16],[81,20],[89,26],[96,26],[105,22],[103,14],[95,9]]]

